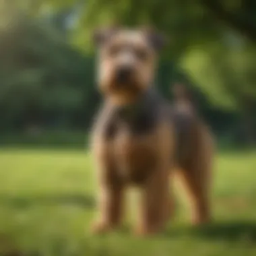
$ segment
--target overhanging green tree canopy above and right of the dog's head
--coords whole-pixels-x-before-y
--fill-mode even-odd
[[[215,104],[234,109],[241,107],[237,95],[255,99],[255,46],[243,38],[239,42],[241,36],[222,26],[226,23],[234,31],[241,32],[241,26],[247,22],[251,34],[256,33],[253,1],[187,1],[185,4],[174,0],[88,0],[82,7],[74,34],[77,44],[81,40],[83,45],[90,46],[92,30],[102,24],[152,24],[170,37],[164,57],[185,59],[183,67]]]

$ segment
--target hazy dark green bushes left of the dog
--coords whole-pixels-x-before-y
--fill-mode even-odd
[[[42,22],[23,15],[16,19],[0,38],[1,128],[15,127],[24,117],[28,124],[40,123],[33,119],[54,112],[58,117],[63,113],[59,122],[70,123],[74,112],[92,106],[93,60],[77,53],[57,30]]]

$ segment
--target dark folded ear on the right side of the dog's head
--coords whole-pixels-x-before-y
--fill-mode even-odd
[[[143,28],[143,32],[146,34],[150,44],[156,51],[162,50],[167,43],[167,38],[161,32],[154,30],[153,28]]]

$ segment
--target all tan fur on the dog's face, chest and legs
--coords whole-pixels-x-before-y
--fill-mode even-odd
[[[127,44],[131,49],[142,47],[148,51],[145,61],[138,61],[134,56],[128,58],[135,65],[136,92],[117,89],[113,84],[113,73],[122,60],[122,57],[113,59],[108,53],[115,44],[120,47]],[[141,34],[123,31],[114,36],[100,52],[98,82],[106,101],[117,105],[132,102],[140,90],[145,90],[151,84],[155,63],[155,53]],[[189,110],[189,105],[185,106],[185,110]],[[106,232],[121,224],[125,212],[125,190],[133,184],[141,189],[136,234],[160,232],[173,212],[170,189],[170,177],[173,175],[170,174],[177,168],[193,207],[193,223],[201,224],[210,220],[212,135],[199,121],[191,128],[186,143],[189,155],[182,162],[177,162],[175,131],[167,120],[158,123],[148,135],[134,135],[121,129],[114,139],[108,140],[101,129],[95,130],[92,151],[97,164],[100,215],[92,230]]]

